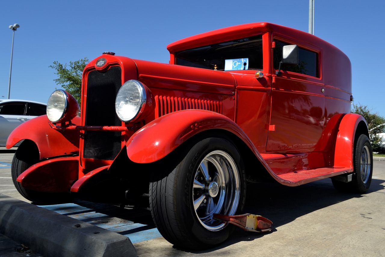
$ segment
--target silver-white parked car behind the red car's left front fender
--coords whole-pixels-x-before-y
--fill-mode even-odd
[[[7,143],[9,134],[18,125],[40,115],[46,114],[47,104],[36,101],[0,100],[0,147]]]

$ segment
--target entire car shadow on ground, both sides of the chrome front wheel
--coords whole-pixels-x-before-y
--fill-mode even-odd
[[[384,180],[372,179],[370,191],[367,194],[384,189],[382,185],[384,182]],[[340,193],[333,187],[330,179],[323,179],[296,187],[283,186],[278,183],[249,184],[243,213],[262,215],[273,221],[273,230],[267,233],[274,233],[277,231],[276,228],[290,223],[303,215],[352,198],[364,196],[365,194]],[[97,204],[87,201],[75,201],[75,203],[92,208],[94,211],[105,215],[146,225],[140,228],[141,230],[155,228],[151,213],[147,208],[122,208],[116,205]],[[121,234],[127,233],[131,232],[121,232]],[[213,252],[241,241],[253,241],[264,235],[266,233],[246,232],[237,228],[228,240],[216,247],[199,251],[178,249],[194,254],[202,254]]]

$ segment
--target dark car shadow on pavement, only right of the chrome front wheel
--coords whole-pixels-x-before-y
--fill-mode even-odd
[[[384,189],[384,180],[372,179],[370,194]],[[352,198],[365,197],[365,194],[341,193],[331,184],[330,179],[323,179],[302,186],[288,187],[278,183],[259,183],[248,185],[244,213],[261,215],[273,221],[271,232],[277,231],[282,225],[313,211],[341,203]],[[191,253],[212,252],[241,241],[253,241],[266,233],[247,232],[237,229],[224,243],[204,251],[189,251]]]

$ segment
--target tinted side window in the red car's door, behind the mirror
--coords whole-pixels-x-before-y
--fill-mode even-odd
[[[289,44],[276,40],[274,42],[274,69],[278,70],[280,61],[282,60],[282,47]],[[299,47],[298,55],[299,63],[297,66],[282,65],[281,69],[284,71],[291,71],[319,78],[320,74],[318,68],[318,54],[316,52],[312,52]]]

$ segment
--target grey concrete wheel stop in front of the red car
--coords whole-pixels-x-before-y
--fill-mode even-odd
[[[4,194],[0,233],[46,256],[137,256],[128,237]]]

